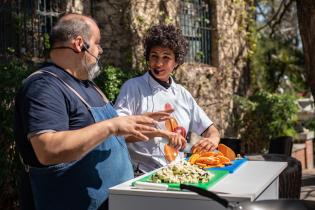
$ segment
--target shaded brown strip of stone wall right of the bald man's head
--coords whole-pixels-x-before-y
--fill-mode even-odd
[[[93,17],[101,29],[102,61],[128,69],[132,65],[131,1],[94,1]]]

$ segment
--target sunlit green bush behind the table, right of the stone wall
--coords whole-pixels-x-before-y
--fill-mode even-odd
[[[298,106],[288,94],[259,91],[247,98],[236,96],[238,114],[235,124],[241,133],[246,152],[262,152],[269,141],[278,136],[293,136],[296,131]]]

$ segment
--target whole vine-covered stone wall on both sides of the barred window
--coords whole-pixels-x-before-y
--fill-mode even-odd
[[[180,0],[94,2],[93,16],[101,28],[106,64],[124,69],[145,69],[142,40],[146,30],[162,22],[179,26]],[[241,15],[245,0],[209,2],[212,64],[182,65],[175,77],[211,116],[222,135],[235,136],[230,121],[232,97],[239,90],[247,53],[245,23]]]

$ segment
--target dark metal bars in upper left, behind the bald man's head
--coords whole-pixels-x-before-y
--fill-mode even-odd
[[[0,54],[43,57],[49,48],[49,32],[66,1],[12,0],[0,4]]]

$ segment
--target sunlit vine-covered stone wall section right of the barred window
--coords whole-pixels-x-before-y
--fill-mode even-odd
[[[231,0],[212,0],[210,5],[212,65],[183,65],[176,78],[209,114],[222,136],[237,137],[231,121],[233,95],[239,91],[246,65],[246,34],[240,30],[240,25],[245,25],[240,15],[245,5],[234,5]]]

